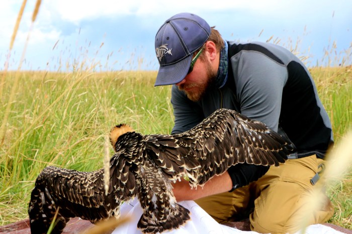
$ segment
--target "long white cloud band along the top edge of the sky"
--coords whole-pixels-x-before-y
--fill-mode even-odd
[[[194,12],[202,11],[229,11],[229,10],[248,10],[252,12],[275,12],[278,8],[287,6],[292,11],[302,6],[300,1],[278,1],[278,0],[252,0],[252,1],[233,1],[223,0],[217,4],[206,3],[204,0],[178,0],[174,2],[164,0],[134,0],[134,1],[114,1],[114,0],[61,0],[42,2],[41,8],[50,12],[56,12],[62,20],[78,24],[82,20],[94,20],[99,17],[119,17],[125,15],[136,16],[171,16],[170,12]],[[302,4],[305,1],[301,0]],[[263,11],[263,9],[265,9]],[[171,13],[172,14],[172,13]]]

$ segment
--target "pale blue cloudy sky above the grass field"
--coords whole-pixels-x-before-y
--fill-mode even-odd
[[[27,0],[10,50],[22,2],[2,0],[0,71],[7,63],[9,70],[157,70],[155,34],[181,12],[204,18],[225,40],[297,45],[308,67],[328,58],[352,63],[350,0],[42,0],[33,24],[36,0]]]

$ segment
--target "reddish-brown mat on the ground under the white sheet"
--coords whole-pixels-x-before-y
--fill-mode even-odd
[[[323,225],[329,226],[335,230],[338,230],[342,233],[346,234],[352,234],[352,230],[331,224],[331,223],[322,223]],[[249,220],[245,219],[239,222],[227,222],[224,223],[226,226],[234,227],[240,230],[248,231],[250,230],[250,225],[249,225]],[[87,220],[82,220],[79,218],[72,218],[68,223],[67,226],[65,227],[64,231],[62,232],[63,234],[69,234],[69,233],[76,233],[79,234],[82,231],[93,227],[94,224],[92,224],[90,221]],[[11,234],[30,234],[31,230],[29,228],[29,219],[24,219],[21,221],[17,221],[14,223],[10,223],[5,226],[0,226],[0,233],[5,234],[5,233],[11,233]],[[110,232],[111,233],[111,232]]]

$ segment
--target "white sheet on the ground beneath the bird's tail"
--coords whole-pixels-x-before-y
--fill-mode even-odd
[[[215,221],[208,213],[206,213],[199,205],[194,201],[181,201],[179,202],[185,208],[191,211],[191,220],[186,222],[186,225],[181,226],[177,229],[172,229],[169,231],[164,231],[162,234],[256,234],[255,231],[242,231],[236,228],[228,227],[219,224]],[[142,215],[142,208],[139,204],[138,199],[133,201],[125,202],[121,206],[121,216],[130,216],[131,221],[125,225],[117,227],[112,234],[142,234],[142,232],[137,228],[137,223]],[[301,233],[301,232],[297,232]],[[340,234],[339,232],[331,227],[314,224],[310,225],[305,230],[306,234],[316,234],[316,233],[331,233]]]

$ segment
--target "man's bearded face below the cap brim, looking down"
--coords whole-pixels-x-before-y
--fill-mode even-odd
[[[192,101],[199,101],[214,85],[217,71],[211,66],[210,61],[198,59],[193,71],[176,85],[183,90]]]

